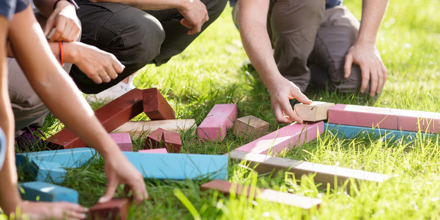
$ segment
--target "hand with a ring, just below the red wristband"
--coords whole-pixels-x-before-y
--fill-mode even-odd
[[[77,65],[87,77],[97,84],[116,79],[118,73],[122,73],[125,68],[111,53],[80,42],[72,42],[71,46],[64,50],[67,57],[65,62]]]

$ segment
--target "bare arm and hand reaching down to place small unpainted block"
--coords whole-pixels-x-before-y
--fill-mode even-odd
[[[267,32],[269,0],[239,0],[238,26],[241,41],[255,70],[269,90],[272,109],[278,123],[302,123],[293,111],[289,99],[310,104],[299,88],[281,76],[272,54],[272,46]]]

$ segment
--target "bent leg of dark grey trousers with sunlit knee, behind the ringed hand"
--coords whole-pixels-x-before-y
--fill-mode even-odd
[[[165,32],[150,14],[122,4],[78,2],[82,25],[81,42],[112,53],[125,65],[124,71],[108,83],[96,84],[73,65],[70,76],[86,94],[97,94],[145,67],[159,55]]]

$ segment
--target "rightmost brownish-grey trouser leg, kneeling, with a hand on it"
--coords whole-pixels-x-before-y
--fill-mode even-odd
[[[359,65],[344,79],[345,56],[358,36],[360,23],[345,6],[325,10],[309,58],[312,83],[330,91],[358,92],[362,82]]]

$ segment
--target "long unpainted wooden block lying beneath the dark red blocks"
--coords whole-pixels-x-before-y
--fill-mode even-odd
[[[188,131],[194,124],[194,119],[129,121],[113,130],[112,133],[128,133],[133,136],[133,138],[139,138],[140,135],[149,135],[158,128],[171,132]]]

